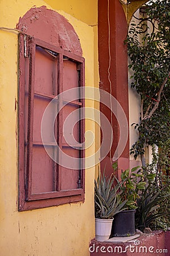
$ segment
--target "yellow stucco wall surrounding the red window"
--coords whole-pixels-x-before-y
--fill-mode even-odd
[[[86,2],[83,7],[78,0],[46,2],[1,0],[0,27],[15,28],[19,17],[34,5],[37,7],[45,5],[50,9],[58,10],[69,20],[79,36],[83,57],[86,59],[86,86],[97,87],[99,84],[97,1],[82,2]],[[86,170],[84,203],[18,212],[17,33],[0,30],[0,49],[0,254],[2,256],[87,256],[88,244],[95,236],[93,207],[95,167]],[[93,102],[87,104],[94,106]],[[94,122],[86,122],[86,127],[87,130],[95,132]],[[88,154],[94,151],[95,144],[92,144],[88,148]]]

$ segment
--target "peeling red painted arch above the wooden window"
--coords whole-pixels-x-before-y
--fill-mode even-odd
[[[82,56],[78,35],[65,17],[46,6],[35,7],[19,19],[17,28],[53,46]]]

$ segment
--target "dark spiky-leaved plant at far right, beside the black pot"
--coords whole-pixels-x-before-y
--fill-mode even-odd
[[[155,157],[157,155],[154,152]],[[155,160],[158,161],[157,158]],[[135,213],[135,226],[142,232],[145,228],[154,228],[159,218],[161,218],[160,227],[168,228],[166,223],[168,223],[167,216],[169,216],[170,180],[162,172],[156,174],[153,163],[147,164],[143,168],[147,185],[137,199],[138,208]],[[165,225],[162,225],[163,222]]]

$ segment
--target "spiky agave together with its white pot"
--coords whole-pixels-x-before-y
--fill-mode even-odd
[[[122,210],[127,200],[121,200],[121,184],[114,184],[116,177],[112,174],[108,179],[105,172],[95,180],[95,232],[97,241],[108,240],[113,216]]]

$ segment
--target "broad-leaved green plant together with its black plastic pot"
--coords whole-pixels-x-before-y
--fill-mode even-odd
[[[115,169],[116,164],[113,164]],[[139,166],[134,167],[131,171],[125,170],[121,174],[121,180],[117,180],[120,184],[120,204],[126,200],[126,210],[114,216],[112,225],[113,237],[126,237],[135,234],[135,209],[137,209],[137,199],[140,193],[145,189],[146,182],[143,181],[143,174],[138,170]]]

